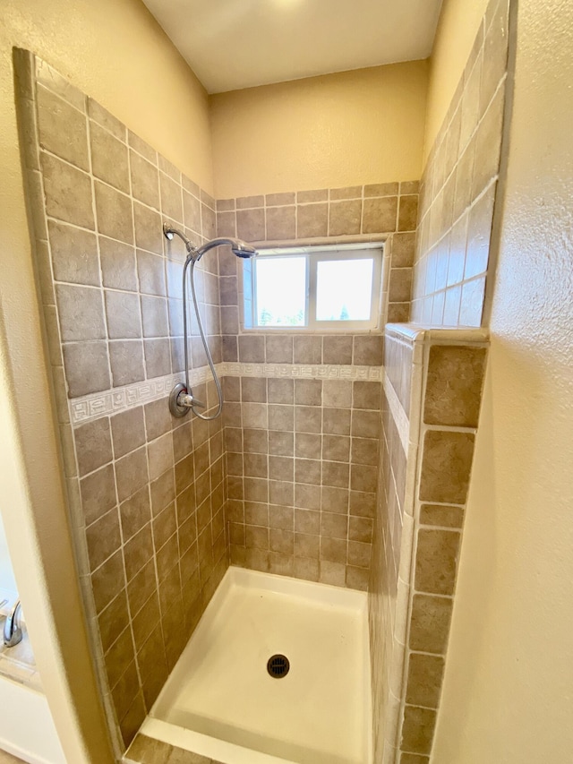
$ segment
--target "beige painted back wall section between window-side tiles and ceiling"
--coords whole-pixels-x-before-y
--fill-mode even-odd
[[[417,180],[427,62],[211,96],[219,199]]]

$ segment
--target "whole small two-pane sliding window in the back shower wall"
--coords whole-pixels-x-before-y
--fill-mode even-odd
[[[245,327],[372,329],[381,260],[380,244],[260,250],[244,262]]]

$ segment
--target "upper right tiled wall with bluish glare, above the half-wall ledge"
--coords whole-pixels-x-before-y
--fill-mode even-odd
[[[491,0],[420,184],[412,321],[480,326],[507,90],[509,0]]]

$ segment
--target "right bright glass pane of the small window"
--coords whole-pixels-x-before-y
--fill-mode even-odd
[[[316,320],[368,321],[373,267],[372,258],[318,262]]]

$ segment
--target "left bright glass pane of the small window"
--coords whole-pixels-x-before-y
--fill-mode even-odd
[[[263,257],[257,269],[257,325],[306,324],[306,258]]]

